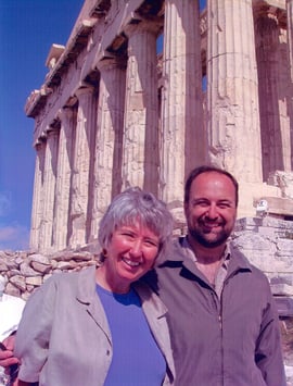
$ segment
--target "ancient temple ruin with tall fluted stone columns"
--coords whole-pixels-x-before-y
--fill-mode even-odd
[[[138,185],[182,222],[195,165],[240,182],[239,216],[293,220],[293,0],[86,0],[53,45],[35,120],[31,249],[97,237]]]

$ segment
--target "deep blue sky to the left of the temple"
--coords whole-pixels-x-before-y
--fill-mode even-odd
[[[0,0],[0,250],[28,248],[35,172],[34,120],[24,113],[66,45],[82,0]]]

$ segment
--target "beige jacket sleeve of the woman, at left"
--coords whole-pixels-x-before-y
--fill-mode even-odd
[[[50,278],[29,297],[25,306],[14,350],[22,361],[20,379],[31,383],[39,379],[48,357],[55,296],[56,284]]]

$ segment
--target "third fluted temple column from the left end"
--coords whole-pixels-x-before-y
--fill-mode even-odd
[[[58,157],[55,216],[53,224],[53,247],[55,250],[66,248],[68,242],[67,234],[76,110],[64,108],[60,111],[59,119],[61,121],[61,128]]]

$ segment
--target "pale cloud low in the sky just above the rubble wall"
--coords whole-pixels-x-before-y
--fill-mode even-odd
[[[17,223],[0,224],[0,250],[27,250],[29,245],[29,229]]]

